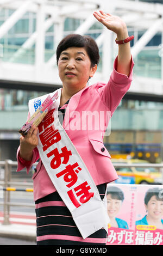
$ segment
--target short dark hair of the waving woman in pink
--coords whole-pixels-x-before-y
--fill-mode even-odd
[[[91,67],[99,63],[99,50],[96,41],[89,35],[70,34],[62,39],[57,47],[57,65],[62,51],[69,47],[83,47],[91,61]]]

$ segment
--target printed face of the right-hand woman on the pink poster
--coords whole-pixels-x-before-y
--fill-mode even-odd
[[[145,206],[148,211],[148,216],[154,220],[161,220],[163,216],[163,201],[159,201],[156,199],[156,196],[153,196]]]

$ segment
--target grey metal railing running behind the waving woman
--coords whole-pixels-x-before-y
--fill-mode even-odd
[[[36,166],[37,163],[33,164],[33,167]],[[163,184],[163,163],[113,163],[115,168],[120,167],[142,167],[149,168],[154,167],[161,171],[162,174],[162,184]],[[3,205],[4,211],[4,220],[3,224],[10,224],[9,216],[10,216],[10,206],[25,206],[34,208],[34,203],[12,203],[10,202],[10,192],[11,191],[33,191],[33,182],[21,182],[21,181],[13,181],[11,180],[11,168],[17,168],[17,162],[11,160],[0,161],[0,169],[4,168],[4,178],[0,179],[0,187],[4,191],[3,202],[0,202],[0,205]],[[26,187],[26,189],[16,188],[13,186],[21,186]],[[27,188],[28,187],[28,188]]]

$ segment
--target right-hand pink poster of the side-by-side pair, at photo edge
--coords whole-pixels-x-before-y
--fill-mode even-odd
[[[163,186],[137,187],[135,245],[163,245]]]

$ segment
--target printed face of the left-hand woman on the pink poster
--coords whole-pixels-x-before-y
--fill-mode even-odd
[[[107,209],[109,217],[115,217],[120,212],[122,200],[112,199],[111,194],[107,196]]]

